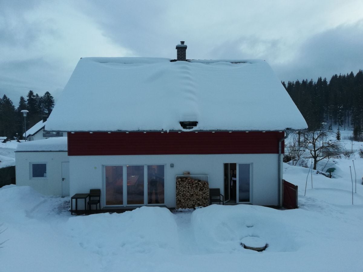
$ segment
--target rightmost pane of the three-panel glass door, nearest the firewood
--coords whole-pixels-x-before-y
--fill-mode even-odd
[[[147,166],[148,204],[164,203],[164,165]]]

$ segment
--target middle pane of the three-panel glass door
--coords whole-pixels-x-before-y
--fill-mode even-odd
[[[127,165],[127,205],[144,204],[144,166]]]

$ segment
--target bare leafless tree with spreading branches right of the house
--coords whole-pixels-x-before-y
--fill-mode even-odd
[[[324,128],[302,133],[302,145],[309,150],[311,157],[313,157],[314,170],[317,169],[319,161],[337,157],[341,153],[342,145],[331,136],[331,132]]]

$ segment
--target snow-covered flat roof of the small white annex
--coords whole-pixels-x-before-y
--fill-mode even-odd
[[[19,143],[16,152],[19,151],[67,151],[67,137],[53,137],[44,140]]]

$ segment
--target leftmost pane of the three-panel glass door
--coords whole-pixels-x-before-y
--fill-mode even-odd
[[[106,205],[123,205],[123,167],[105,166]]]

